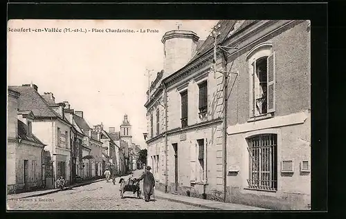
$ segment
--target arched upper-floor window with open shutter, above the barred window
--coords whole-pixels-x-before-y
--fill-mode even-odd
[[[275,52],[271,44],[256,46],[248,53],[250,117],[275,112]]]

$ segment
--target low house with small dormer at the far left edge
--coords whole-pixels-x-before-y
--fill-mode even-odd
[[[32,132],[35,115],[18,111],[20,93],[8,89],[7,192],[16,193],[44,187],[44,146]]]

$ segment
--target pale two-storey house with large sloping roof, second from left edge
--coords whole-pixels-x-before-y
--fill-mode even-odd
[[[71,142],[70,130],[72,125],[64,116],[64,103],[55,103],[53,93],[39,95],[35,84],[9,86],[20,93],[19,111],[32,111],[35,119],[32,122],[33,133],[46,144],[44,166],[48,188],[55,187],[55,180],[62,175],[66,184],[70,184]]]

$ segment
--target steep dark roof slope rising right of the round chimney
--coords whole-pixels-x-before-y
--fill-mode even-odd
[[[220,35],[218,37],[219,43],[224,41],[226,37],[228,36],[228,33],[230,30],[232,30],[233,26],[235,25],[236,20],[221,20],[217,22],[217,26],[221,25],[218,31],[220,32]],[[214,46],[214,37],[208,36],[206,41],[199,46],[199,49],[197,50],[196,55],[192,57],[192,59],[188,62],[190,64],[192,61],[199,59],[204,53],[208,52],[208,50],[212,49]]]

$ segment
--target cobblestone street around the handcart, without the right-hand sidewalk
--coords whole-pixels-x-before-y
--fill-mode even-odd
[[[134,177],[138,177],[135,173]],[[127,178],[127,177],[125,177]],[[206,210],[199,207],[170,202],[168,200],[156,199],[145,202],[143,194],[140,199],[127,191],[124,198],[120,198],[119,178],[116,184],[111,181],[102,180],[83,187],[75,187],[66,191],[23,198],[19,200],[8,200],[8,209],[11,210]],[[140,188],[143,188],[141,182]]]

